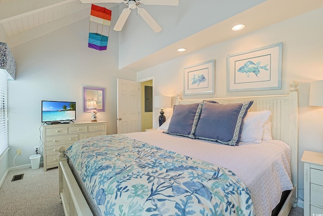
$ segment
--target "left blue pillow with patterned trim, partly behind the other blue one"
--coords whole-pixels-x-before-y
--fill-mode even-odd
[[[170,125],[164,133],[194,139],[193,124],[197,122],[199,117],[198,107],[199,103],[176,105]]]

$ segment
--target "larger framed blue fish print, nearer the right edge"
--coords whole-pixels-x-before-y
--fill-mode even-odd
[[[282,89],[283,43],[228,55],[227,92]]]

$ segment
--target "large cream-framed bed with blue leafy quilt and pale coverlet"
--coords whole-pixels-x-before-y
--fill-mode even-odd
[[[199,109],[204,106],[198,114],[200,117],[194,132],[192,128],[193,133],[179,136],[176,130],[172,131],[177,116],[174,109],[172,119],[168,121],[170,125],[164,128],[162,125],[155,131],[89,138],[78,141],[67,151],[60,148],[60,198],[65,215],[102,212],[105,215],[271,215],[283,191],[286,197],[282,198],[279,211],[274,214],[288,215],[297,203],[296,87],[297,82],[292,82],[289,95],[197,100],[178,97],[176,104],[183,105],[178,107],[198,104]],[[220,138],[214,143],[204,135],[208,124],[204,128],[199,126],[203,122],[203,110],[231,104],[250,105],[244,116],[246,122],[246,116],[251,113],[270,111],[273,140],[255,144],[248,141],[249,136],[241,134],[237,139],[242,141],[235,145],[232,140],[221,143]],[[248,142],[243,142],[245,140]],[[72,151],[74,154],[69,155]],[[133,152],[136,154],[130,154]],[[69,165],[65,153],[74,163]],[[103,160],[111,164],[104,165]],[[151,161],[154,161],[153,165]],[[91,171],[93,167],[95,171]],[[98,172],[101,170],[105,170],[105,174]],[[278,182],[273,180],[276,176]],[[146,182],[137,182],[139,180]],[[221,187],[214,188],[214,185]]]

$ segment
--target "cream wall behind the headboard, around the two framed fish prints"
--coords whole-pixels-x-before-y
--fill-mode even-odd
[[[137,73],[138,79],[154,76],[154,95],[175,97],[183,94],[183,67],[216,60],[214,95],[204,97],[234,97],[288,94],[289,82],[299,82],[299,158],[304,150],[323,152],[323,108],[309,107],[309,82],[323,79],[323,8],[225,41],[196,53],[156,65]],[[227,55],[283,42],[282,90],[257,92],[226,91]],[[202,96],[201,96],[202,97]],[[184,97],[198,98],[198,96]],[[172,109],[165,110],[166,116]],[[154,109],[153,127],[157,127],[158,110]],[[303,198],[303,163],[299,161],[299,196]]]

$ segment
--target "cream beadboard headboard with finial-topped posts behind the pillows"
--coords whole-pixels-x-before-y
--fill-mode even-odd
[[[292,148],[291,170],[293,185],[298,186],[298,82],[290,83],[288,95],[271,95],[237,98],[207,98],[181,100],[177,97],[176,104],[192,104],[203,100],[213,100],[220,104],[237,103],[253,100],[249,111],[270,110],[272,116],[272,134],[274,140],[281,140]],[[296,202],[297,202],[296,190]]]

